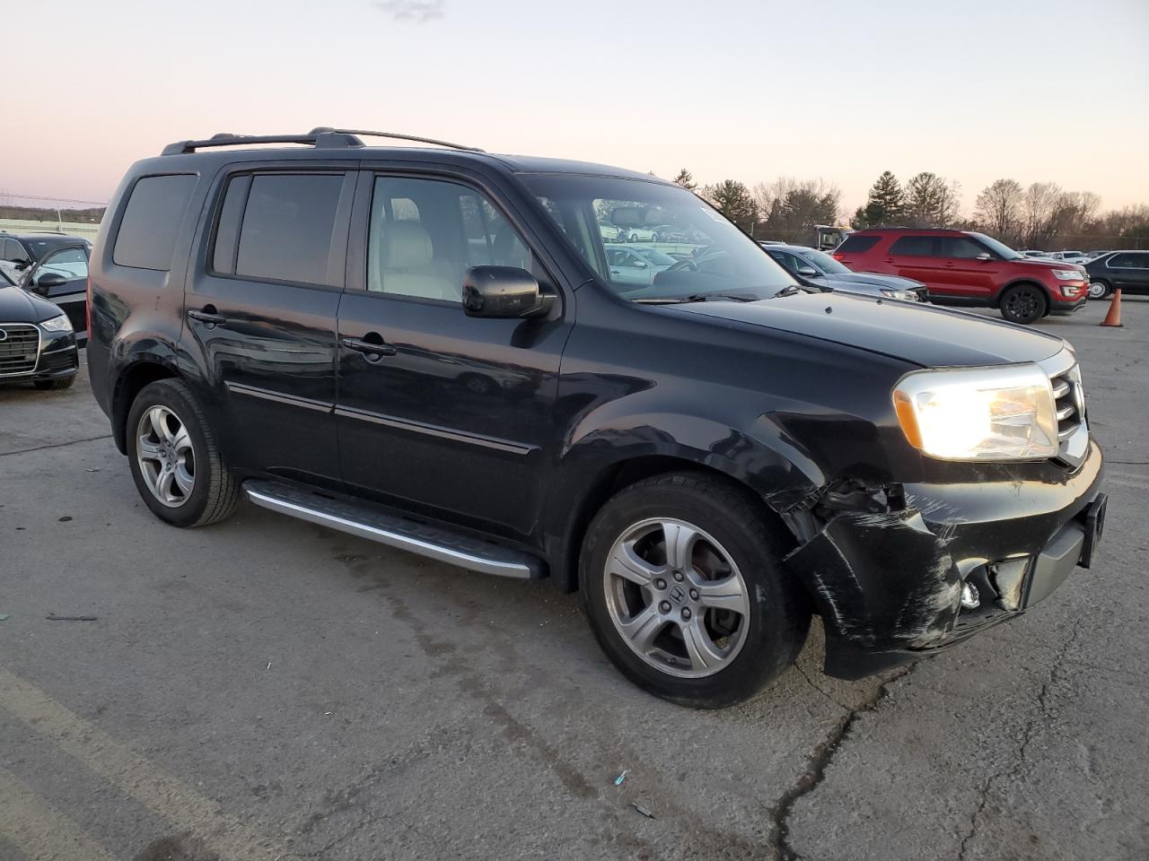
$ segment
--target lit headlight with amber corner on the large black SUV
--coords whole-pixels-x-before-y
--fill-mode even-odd
[[[910,444],[942,460],[1033,460],[1058,450],[1054,390],[1036,365],[919,371],[894,388]]]

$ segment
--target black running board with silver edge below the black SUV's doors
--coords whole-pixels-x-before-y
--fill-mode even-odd
[[[377,541],[447,565],[519,580],[535,580],[543,576],[546,571],[542,560],[530,553],[472,538],[444,527],[384,514],[368,505],[319,496],[291,484],[253,479],[244,482],[244,492],[261,509]]]

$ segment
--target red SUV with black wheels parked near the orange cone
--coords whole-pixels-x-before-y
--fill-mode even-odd
[[[855,272],[924,281],[936,304],[1000,308],[1011,323],[1072,313],[1088,298],[1081,266],[1023,257],[982,233],[876,227],[851,233],[833,254]]]

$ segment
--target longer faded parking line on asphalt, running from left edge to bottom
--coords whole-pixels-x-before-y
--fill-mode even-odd
[[[225,813],[217,802],[167,774],[154,762],[69,711],[34,684],[0,668],[0,708],[10,712],[64,753],[167,819],[178,831],[188,831],[229,861],[295,859],[265,836]],[[0,799],[2,800],[2,799]],[[0,804],[0,809],[3,805]],[[31,858],[53,855],[31,853]],[[71,858],[70,855],[62,858]]]

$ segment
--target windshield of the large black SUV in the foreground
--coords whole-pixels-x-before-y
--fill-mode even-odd
[[[751,239],[685,188],[572,173],[524,180],[600,280],[624,298],[769,298],[794,284]],[[649,265],[622,265],[627,255],[618,249]]]

